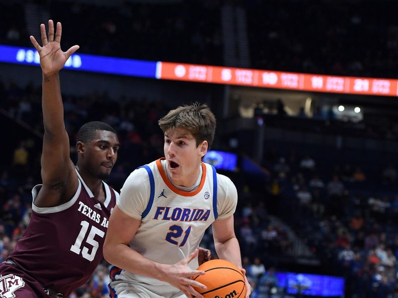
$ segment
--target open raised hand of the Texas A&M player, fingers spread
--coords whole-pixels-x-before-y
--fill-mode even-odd
[[[40,32],[43,43],[42,47],[33,36],[30,36],[30,41],[39,53],[43,74],[59,72],[64,67],[68,58],[79,49],[79,46],[75,45],[68,51],[62,52],[60,44],[62,26],[60,22],[57,23],[57,31],[54,34],[54,22],[52,20],[48,21],[48,40],[44,24],[40,25]]]

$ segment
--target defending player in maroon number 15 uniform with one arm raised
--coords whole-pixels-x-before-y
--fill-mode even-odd
[[[115,131],[89,122],[77,136],[76,166],[70,159],[59,71],[79,48],[62,52],[61,23],[49,21],[48,39],[41,24],[44,123],[42,185],[32,190],[30,223],[7,261],[0,265],[0,297],[68,297],[90,278],[102,259],[108,219],[118,193],[102,180],[117,158]]]

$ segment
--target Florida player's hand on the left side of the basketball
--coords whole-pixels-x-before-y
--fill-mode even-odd
[[[203,275],[204,271],[191,270],[188,264],[198,256],[198,249],[180,262],[170,265],[164,281],[181,290],[188,298],[203,298],[192,286],[205,289],[204,285],[191,279],[192,276]]]

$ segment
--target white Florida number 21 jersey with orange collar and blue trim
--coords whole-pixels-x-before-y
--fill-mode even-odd
[[[175,264],[199,247],[204,231],[218,217],[216,171],[210,164],[202,162],[198,189],[184,192],[168,180],[161,159],[143,167],[149,176],[150,198],[142,214],[141,225],[129,246],[150,260]],[[189,267],[195,270],[198,260],[193,260]],[[127,282],[170,286],[125,270],[111,274],[111,277]]]

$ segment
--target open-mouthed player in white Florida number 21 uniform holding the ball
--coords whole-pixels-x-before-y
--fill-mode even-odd
[[[196,270],[198,247],[210,225],[218,257],[245,275],[233,224],[236,188],[201,161],[215,125],[213,113],[199,103],[159,120],[165,158],[130,174],[109,220],[103,254],[115,265],[112,298],[202,298],[192,286],[205,287],[191,277],[204,274]]]

